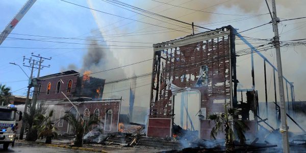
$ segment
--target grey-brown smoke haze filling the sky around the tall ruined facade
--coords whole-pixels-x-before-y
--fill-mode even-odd
[[[269,22],[271,20],[270,15],[268,13],[268,9],[266,3],[264,1],[253,1],[253,0],[233,0],[233,1],[183,1],[183,0],[173,0],[173,1],[160,1],[163,3],[169,3],[175,6],[181,6],[186,8],[191,8],[194,10],[188,10],[184,8],[174,7],[171,5],[157,3],[154,1],[135,1],[135,2],[125,2],[131,5],[149,10],[151,12],[155,12],[161,15],[165,15],[168,17],[172,17],[175,19],[179,19],[188,23],[194,22],[196,25],[202,25],[203,27],[209,29],[220,28],[222,26],[231,24],[234,28],[238,28],[239,31],[243,31],[257,25]],[[105,16],[103,13],[98,13],[96,11],[91,10],[91,13],[99,27],[98,34],[95,36],[104,36],[103,39],[98,40],[106,40],[106,41],[127,41],[126,43],[119,42],[104,42],[102,44],[106,45],[131,45],[131,46],[152,46],[154,43],[168,41],[172,39],[176,39],[179,37],[184,37],[186,35],[190,35],[192,33],[191,27],[186,26],[185,24],[177,23],[174,21],[167,21],[169,23],[157,21],[148,17],[144,17],[142,15],[135,15],[127,10],[123,10],[116,6],[112,6],[103,2],[95,2],[88,0],[87,1],[90,8],[97,10],[104,10],[106,12],[112,14],[118,14],[120,16],[129,17],[132,19],[140,20],[143,22],[153,23],[157,25],[161,25],[163,27],[184,30],[183,32],[175,32],[174,30],[164,29],[161,27],[156,27],[149,24],[140,23],[137,21],[131,21],[122,18],[113,18],[112,16]],[[268,1],[270,9],[271,2]],[[304,6],[306,5],[305,1],[286,1],[280,0],[276,2],[277,5],[277,16],[281,18],[295,18],[301,17],[301,14],[305,14]],[[294,9],[294,11],[292,11]],[[202,10],[207,12],[217,12],[219,14],[205,13],[199,12],[195,10]],[[221,15],[223,14],[237,14],[237,15]],[[240,16],[245,14],[266,14],[258,17],[254,16]],[[154,16],[152,16],[154,17]],[[156,17],[155,17],[156,18]],[[223,22],[220,22],[223,21]],[[305,37],[305,29],[300,27],[302,24],[298,23],[302,20],[292,20],[290,22],[284,22],[279,24],[279,32],[281,33],[281,40],[290,40],[290,39],[298,39]],[[171,23],[171,24],[170,24]],[[296,24],[293,24],[296,23]],[[173,25],[175,24],[175,25]],[[288,25],[287,25],[288,24]],[[180,25],[181,27],[177,26]],[[182,28],[187,27],[188,29]],[[254,37],[254,38],[272,38],[272,25],[265,25],[264,27],[254,29],[245,33],[242,33],[245,36]],[[291,31],[290,31],[291,30]],[[157,31],[158,34],[150,34],[155,32],[146,32],[146,31]],[[174,31],[174,32],[170,32]],[[206,31],[203,29],[195,29],[195,33],[199,33],[202,31]],[[288,31],[288,33],[286,33]],[[125,33],[135,33],[130,34],[130,36],[119,35],[120,37],[113,37],[111,35],[115,34],[125,34]],[[254,33],[256,32],[256,33]],[[149,33],[149,34],[148,34]],[[142,34],[142,35],[141,35]],[[147,34],[147,35],[145,35]],[[129,35],[129,34],[126,34]],[[133,36],[134,35],[134,36]],[[150,42],[150,44],[142,44],[142,43],[128,43],[128,42]],[[237,43],[241,43],[242,41],[237,38]],[[90,43],[98,43],[98,41],[92,41]],[[258,45],[253,43],[254,46]],[[132,64],[136,62],[140,62],[143,60],[151,59],[153,55],[152,48],[125,48],[125,49],[104,49],[104,47],[109,46],[90,46],[87,54],[83,58],[83,67],[81,71],[91,70],[102,71],[105,69],[114,68],[117,66]],[[304,46],[296,46],[290,48],[282,48],[282,57],[283,57],[283,67],[284,67],[284,75],[291,82],[295,83],[295,96],[296,99],[305,100],[303,97],[302,91],[304,90],[304,76],[306,75],[306,69],[303,68],[302,65],[305,65],[306,62],[303,60],[305,58],[305,54],[302,53]],[[237,44],[236,50],[247,48],[246,45]],[[295,52],[295,51],[296,52]],[[264,56],[266,56],[271,63],[276,65],[275,49],[267,50],[263,52]],[[272,55],[272,56],[271,56]],[[286,58],[285,58],[286,57]],[[292,62],[294,59],[295,62]],[[274,62],[273,62],[274,61]],[[259,99],[260,101],[264,101],[264,83],[263,83],[263,60],[259,56],[254,56],[254,64],[256,65],[255,69],[255,80],[256,80],[256,89],[259,90]],[[106,79],[106,82],[132,77],[135,72],[136,75],[150,73],[152,66],[152,61],[142,62],[141,64],[135,64],[131,66],[124,67],[122,69],[111,70],[103,73],[95,74],[95,77]],[[249,89],[252,87],[251,85],[251,70],[250,70],[250,55],[242,56],[237,58],[237,75],[238,80],[240,82],[241,88]],[[277,74],[277,73],[276,73]],[[273,78],[272,77],[272,69],[267,66],[267,80],[268,80],[268,88],[269,95],[268,101],[272,101],[274,99],[274,89],[273,89]],[[271,81],[270,81],[271,80]],[[277,77],[276,77],[277,82]],[[135,95],[135,106],[148,107],[149,106],[149,91],[150,86],[146,86],[146,84],[150,83],[150,77],[137,80],[136,85],[136,95]],[[139,87],[142,86],[142,87]],[[117,96],[123,96],[123,99],[129,99],[129,89],[130,82],[118,82],[114,84],[106,85],[104,98],[113,97],[114,94]],[[278,84],[276,84],[278,88]],[[119,90],[125,90],[122,92],[114,92]],[[276,89],[277,90],[277,89]],[[278,93],[278,90],[277,90]],[[278,95],[278,94],[277,94]],[[289,95],[290,96],[290,95]],[[123,104],[128,106],[129,101],[125,101]]]

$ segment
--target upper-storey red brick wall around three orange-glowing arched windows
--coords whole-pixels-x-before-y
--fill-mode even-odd
[[[56,87],[60,79],[62,79],[64,83],[61,83],[60,93],[57,94]],[[72,80],[71,92],[67,93],[67,86],[68,86],[68,82],[70,79]],[[63,91],[66,94],[66,96],[71,97],[72,96],[71,93],[75,91],[75,87],[77,86],[77,79],[78,79],[78,74],[64,75],[64,76],[51,78],[51,79],[42,79],[42,81],[40,81],[41,90],[40,90],[40,94],[37,95],[37,100],[64,99],[65,96],[61,93],[61,91]],[[51,89],[50,89],[50,93],[46,94],[47,85],[49,82],[51,83]]]

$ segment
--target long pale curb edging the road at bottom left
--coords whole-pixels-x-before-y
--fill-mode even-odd
[[[93,148],[84,148],[84,147],[72,147],[72,146],[60,145],[60,144],[45,144],[45,143],[41,143],[41,142],[27,142],[27,141],[23,141],[23,140],[15,140],[15,142],[24,143],[24,144],[38,144],[38,145],[45,145],[45,146],[50,146],[50,147],[60,147],[60,148],[67,148],[67,149],[74,149],[74,150],[108,153],[107,151],[104,151],[104,150],[98,150],[98,149],[93,149]]]

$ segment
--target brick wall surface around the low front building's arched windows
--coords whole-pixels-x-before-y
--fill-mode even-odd
[[[117,132],[117,123],[118,123],[118,113],[119,113],[119,105],[120,105],[120,101],[112,101],[112,102],[100,102],[100,101],[94,101],[92,103],[82,103],[80,105],[78,105],[78,111],[81,113],[81,115],[83,116],[83,112],[86,108],[89,109],[90,114],[93,115],[95,109],[99,109],[100,111],[100,121],[105,122],[105,115],[106,112],[109,109],[112,109],[113,111],[113,117],[112,117],[112,125],[111,125],[111,131],[105,131],[105,133],[110,133],[110,132]],[[64,112],[68,111],[71,108],[71,104],[57,104],[54,106],[54,109],[56,110],[56,121],[58,121],[59,116],[60,116],[60,111],[61,109],[64,109]],[[78,115],[79,117],[80,115]],[[68,127],[68,123],[66,121],[63,122],[63,126],[60,127],[59,123],[56,124],[56,127],[58,129],[58,133],[59,134],[65,134],[67,133],[67,127]],[[100,125],[99,129],[104,129],[104,126]],[[72,134],[72,132],[70,131],[70,134]]]

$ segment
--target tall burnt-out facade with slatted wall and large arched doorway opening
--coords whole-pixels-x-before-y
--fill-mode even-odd
[[[224,103],[238,107],[235,33],[228,25],[153,45],[147,136],[172,137],[180,125],[209,138],[206,116],[224,112]]]

